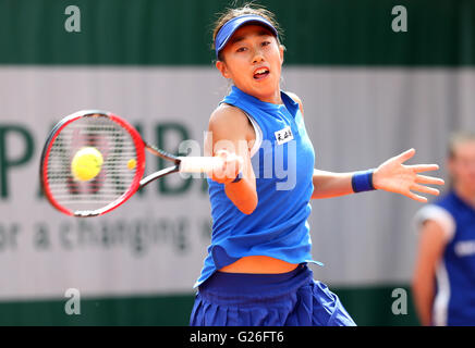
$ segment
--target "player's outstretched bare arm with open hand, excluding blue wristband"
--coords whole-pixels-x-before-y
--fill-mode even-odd
[[[288,94],[293,100],[299,102],[303,115],[302,100],[294,94]],[[410,149],[380,164],[373,172],[373,187],[375,189],[401,194],[419,202],[427,202],[427,198],[413,192],[413,190],[438,196],[438,189],[425,185],[443,185],[443,179],[421,175],[421,173],[436,171],[439,166],[437,164],[403,164],[414,154],[415,150]],[[312,198],[320,199],[354,194],[352,183],[354,174],[354,172],[333,173],[315,169]]]

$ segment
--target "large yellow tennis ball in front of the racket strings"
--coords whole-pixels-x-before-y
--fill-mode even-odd
[[[71,172],[80,182],[95,178],[102,169],[102,154],[94,147],[84,147],[74,154]]]

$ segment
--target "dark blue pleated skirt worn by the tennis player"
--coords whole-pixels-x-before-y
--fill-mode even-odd
[[[282,274],[215,272],[196,294],[191,326],[354,326],[305,263]]]

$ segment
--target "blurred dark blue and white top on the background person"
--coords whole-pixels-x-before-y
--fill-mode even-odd
[[[435,324],[475,325],[475,209],[455,192],[435,206],[453,217],[453,237],[437,271]]]

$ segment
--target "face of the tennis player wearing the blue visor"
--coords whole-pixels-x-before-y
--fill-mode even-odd
[[[283,46],[265,27],[239,28],[221,51],[216,66],[242,91],[266,102],[280,103]]]

